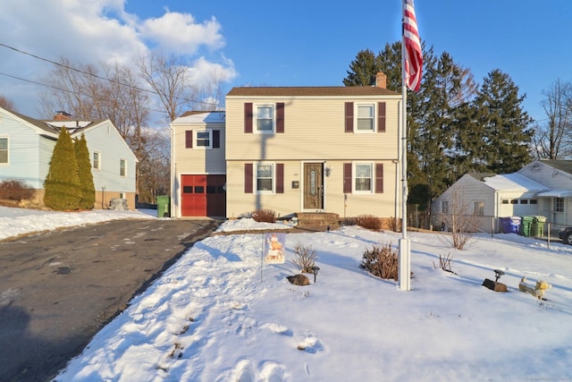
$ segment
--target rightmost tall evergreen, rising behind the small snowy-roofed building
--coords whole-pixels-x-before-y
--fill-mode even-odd
[[[513,173],[532,159],[532,118],[522,108],[524,99],[508,74],[495,69],[484,78],[474,106],[476,123],[484,129],[483,151],[475,161],[483,162],[486,171]]]

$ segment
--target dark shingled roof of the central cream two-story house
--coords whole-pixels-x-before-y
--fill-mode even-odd
[[[395,91],[374,86],[324,86],[324,87],[261,87],[232,88],[227,96],[245,97],[355,97],[355,96],[399,96]]]

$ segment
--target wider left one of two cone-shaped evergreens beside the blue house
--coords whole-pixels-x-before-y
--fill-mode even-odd
[[[65,127],[55,142],[50,168],[44,182],[44,204],[56,210],[80,207],[80,176],[73,141]]]

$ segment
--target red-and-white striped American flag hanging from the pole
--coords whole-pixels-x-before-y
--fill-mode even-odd
[[[405,81],[408,88],[418,91],[421,85],[421,71],[423,67],[423,53],[421,52],[421,40],[417,30],[417,20],[413,0],[403,0],[403,43],[405,44]]]

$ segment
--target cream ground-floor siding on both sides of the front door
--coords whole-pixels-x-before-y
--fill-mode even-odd
[[[346,160],[328,160],[325,166],[330,176],[324,178],[324,210],[343,216],[374,215],[380,217],[399,216],[396,211],[397,167],[391,161],[370,159],[372,163],[383,163],[383,193],[348,194],[343,193],[343,164]],[[271,162],[271,161],[268,161]],[[306,161],[308,162],[308,161]],[[244,192],[244,164],[257,161],[227,161],[227,216],[239,217],[257,208],[269,208],[280,216],[302,211],[304,192],[303,162],[299,160],[273,163],[284,164],[284,193],[257,194]],[[299,182],[299,189],[292,188],[292,182]],[[346,205],[346,207],[344,207]]]

